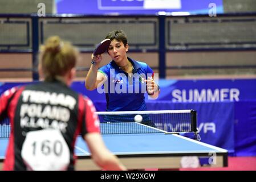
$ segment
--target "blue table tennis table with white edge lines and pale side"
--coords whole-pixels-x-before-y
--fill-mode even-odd
[[[115,127],[117,123],[101,123],[101,131],[105,127]],[[113,125],[113,126],[112,126]],[[140,123],[131,123],[135,127],[148,127]],[[157,133],[127,133],[125,134],[103,134],[103,140],[107,148],[117,155],[121,162],[128,169],[177,169],[181,168],[182,158],[196,156],[200,162],[206,161],[204,166],[200,167],[226,167],[227,150],[212,146],[194,139],[183,137],[178,134],[166,134],[164,131]],[[152,127],[148,127],[152,128]],[[152,128],[153,130],[157,130]],[[0,138],[0,167],[2,167],[7,147],[8,138]],[[78,156],[76,161],[76,170],[97,170],[100,169],[91,159],[90,152],[82,137],[78,137],[75,144],[75,154]],[[215,155],[213,164],[209,164],[209,159]]]

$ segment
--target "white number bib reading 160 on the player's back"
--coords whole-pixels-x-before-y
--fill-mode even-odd
[[[30,131],[22,146],[21,156],[31,170],[66,170],[70,150],[59,130]]]

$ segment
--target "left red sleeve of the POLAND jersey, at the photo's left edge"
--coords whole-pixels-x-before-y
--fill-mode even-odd
[[[18,87],[11,88],[3,92],[0,96],[0,122],[3,118],[7,117],[7,107],[13,98],[14,93],[18,90]]]

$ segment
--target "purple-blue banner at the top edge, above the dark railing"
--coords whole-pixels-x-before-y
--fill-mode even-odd
[[[208,14],[212,7],[224,13],[222,0],[55,0],[59,14],[148,14],[186,12]]]

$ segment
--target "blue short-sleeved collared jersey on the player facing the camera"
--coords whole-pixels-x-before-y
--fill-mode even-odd
[[[99,72],[107,76],[104,92],[107,111],[147,110],[144,93],[147,91],[144,79],[153,77],[153,70],[140,61],[128,57],[133,65],[132,74],[123,71],[115,61],[104,65]]]

